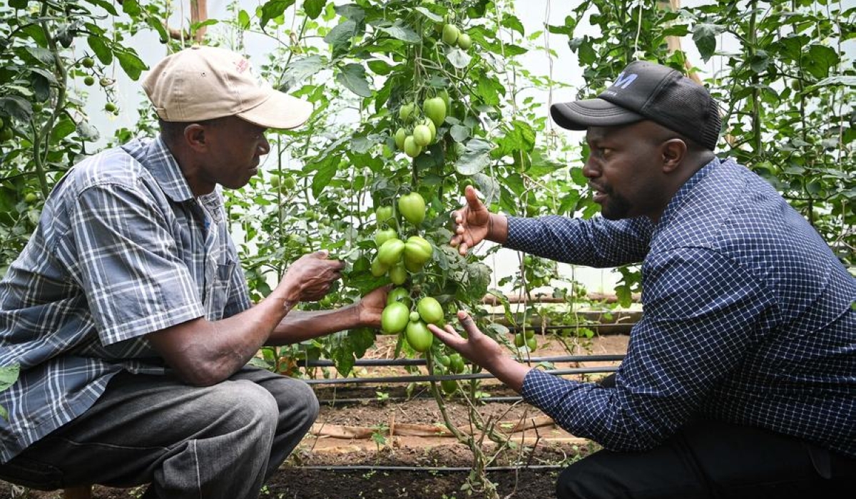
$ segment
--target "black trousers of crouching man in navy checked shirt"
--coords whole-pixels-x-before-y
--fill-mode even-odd
[[[856,460],[772,431],[700,420],[656,449],[591,454],[562,472],[556,495],[559,499],[852,499],[856,497]]]

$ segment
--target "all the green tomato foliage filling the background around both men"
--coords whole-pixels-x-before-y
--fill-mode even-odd
[[[585,0],[561,23],[545,25],[547,33],[567,39],[576,57],[562,63],[583,68],[586,83],[577,89],[579,97],[597,95],[633,59],[687,71],[687,55],[673,50],[669,37],[692,39],[699,55],[716,68],[696,76],[722,103],[721,151],[764,175],[839,258],[853,265],[856,74],[842,47],[853,42],[856,10],[841,2],[807,0],[729,0],[678,11],[663,4]],[[0,5],[6,20],[0,24],[0,275],[26,243],[56,181],[94,152],[98,131],[83,104],[103,92],[108,104],[127,105],[116,102],[115,71],[135,80],[145,69],[128,37],[151,30],[168,43],[167,6],[137,0]],[[446,25],[458,31],[457,41],[450,28],[443,41]],[[447,318],[472,308],[485,333],[506,344],[508,330],[486,324],[487,314],[478,307],[484,294],[496,296],[511,325],[533,324],[528,316],[588,325],[548,309],[530,307],[522,317],[512,313],[508,297],[489,289],[490,261],[463,258],[446,244],[450,212],[460,206],[467,184],[479,189],[491,210],[510,215],[591,217],[598,211],[579,168],[586,146],[568,145],[566,135],[550,126],[544,104],[525,92],[567,84],[552,74],[533,74],[521,63],[556,52],[545,46],[544,31],[527,33],[514,3],[268,0],[253,9],[232,3],[224,19],[199,23],[191,32],[203,26],[211,27],[209,45],[245,50],[250,37],[275,43],[254,56],[254,64],[266,80],[315,107],[304,127],[271,131],[272,152],[263,173],[226,193],[253,300],[269,294],[300,255],[323,248],[346,262],[345,276],[324,300],[304,307],[353,303],[389,282],[371,271],[374,236],[395,229],[402,241],[421,235],[434,250],[424,267],[409,271],[406,286],[414,302],[432,296]],[[466,43],[461,33],[469,37]],[[435,104],[425,111],[431,98],[443,100],[444,113]],[[436,137],[407,156],[395,145],[395,132],[403,128],[412,134],[414,124],[426,118]],[[140,110],[137,129],[119,130],[114,141],[138,133],[154,133],[146,110]],[[423,222],[414,226],[395,211],[377,219],[378,207],[395,207],[410,192],[425,199]],[[500,285],[510,284],[520,294],[551,286],[558,276],[556,264],[542,258],[520,258],[519,266]],[[619,271],[617,293],[627,305],[639,291],[639,271]],[[584,291],[573,283],[554,296],[574,303]],[[374,334],[351,330],[264,348],[255,362],[290,375],[316,376],[301,374],[295,360],[323,357],[347,375],[372,346]],[[428,359],[448,359],[437,342],[431,348]],[[399,343],[398,353],[415,354],[407,342]],[[441,360],[436,367],[448,368]],[[473,490],[479,486],[489,494],[486,484],[473,483]]]

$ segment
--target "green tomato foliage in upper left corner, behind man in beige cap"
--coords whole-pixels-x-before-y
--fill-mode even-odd
[[[134,4],[124,5],[132,20],[151,17]],[[111,3],[94,0],[0,5],[0,276],[56,181],[98,140],[83,105],[86,83],[101,82],[92,88],[116,106],[111,65],[134,80],[146,68],[123,43],[132,32],[104,26],[116,15]]]

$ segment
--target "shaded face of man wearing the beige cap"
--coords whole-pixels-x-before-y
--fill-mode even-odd
[[[205,127],[209,154],[201,175],[205,181],[236,189],[259,171],[259,161],[270,151],[267,128],[229,116]]]

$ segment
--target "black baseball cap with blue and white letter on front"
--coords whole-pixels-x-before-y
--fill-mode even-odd
[[[675,69],[646,61],[627,65],[597,98],[553,104],[550,115],[568,130],[651,120],[710,151],[722,128],[719,104],[704,86]]]

